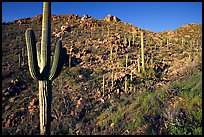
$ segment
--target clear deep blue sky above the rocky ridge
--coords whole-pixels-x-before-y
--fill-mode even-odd
[[[42,2],[2,2],[2,22],[42,13]],[[154,32],[202,24],[202,2],[52,2],[52,14],[77,14],[102,19],[108,14]]]

